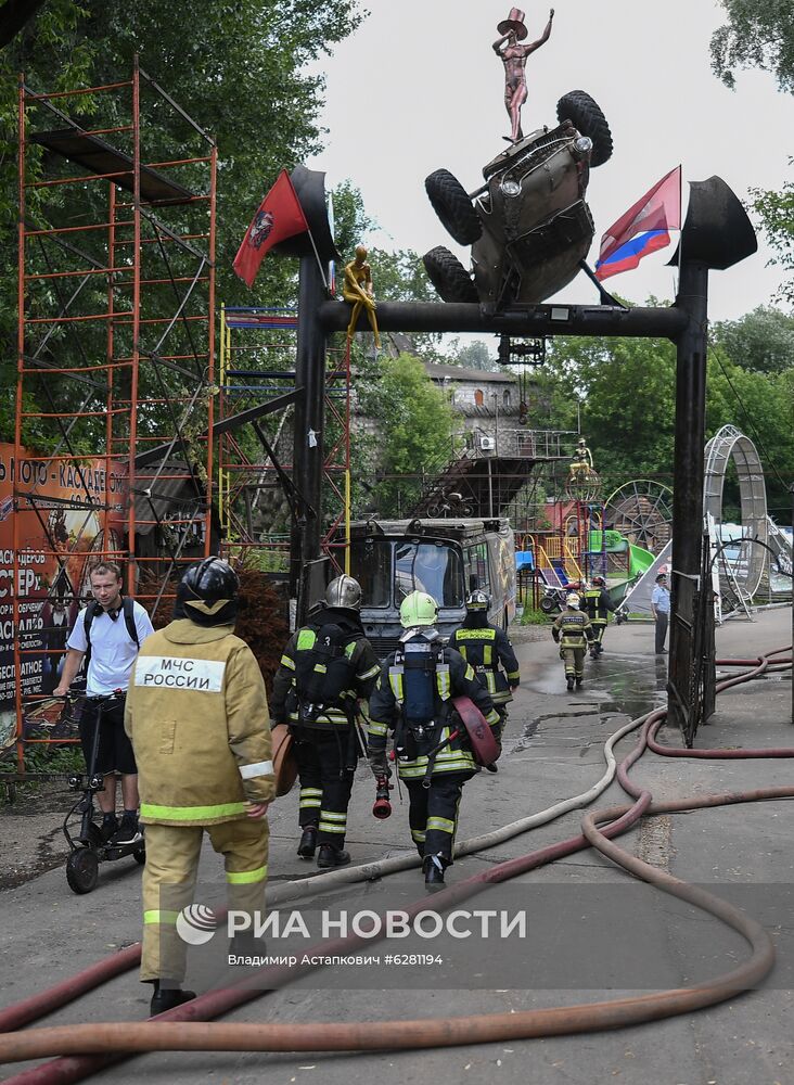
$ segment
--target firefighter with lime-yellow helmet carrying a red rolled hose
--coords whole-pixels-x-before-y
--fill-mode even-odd
[[[370,699],[368,755],[375,776],[390,776],[386,740],[394,731],[395,761],[408,789],[411,839],[425,883],[444,884],[452,861],[463,784],[479,771],[451,698],[468,697],[495,735],[499,716],[460,652],[445,648],[435,623],[438,607],[425,591],[402,600],[400,647],[384,662]]]

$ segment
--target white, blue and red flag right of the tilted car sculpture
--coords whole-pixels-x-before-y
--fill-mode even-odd
[[[680,229],[681,167],[676,166],[603,235],[596,278],[609,279],[636,268],[643,256],[669,245],[670,230]]]

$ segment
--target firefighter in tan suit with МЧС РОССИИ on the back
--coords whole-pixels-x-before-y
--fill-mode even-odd
[[[267,695],[254,653],[234,636],[238,577],[207,558],[184,573],[174,621],[148,637],[127,694],[145,825],[141,980],[152,1013],[189,998],[177,919],[193,901],[204,832],[223,855],[229,907],[264,912],[265,815],[276,793]]]

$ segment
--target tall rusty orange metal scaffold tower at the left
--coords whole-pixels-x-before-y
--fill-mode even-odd
[[[137,60],[101,87],[21,79],[18,125],[17,676],[47,647],[23,618],[79,605],[89,558],[154,613],[209,553],[217,153]],[[21,761],[30,700],[17,681]]]

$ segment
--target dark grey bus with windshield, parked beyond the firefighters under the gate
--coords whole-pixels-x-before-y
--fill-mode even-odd
[[[414,590],[438,603],[449,637],[466,596],[490,596],[488,621],[507,629],[515,615],[515,546],[507,520],[368,520],[350,525],[350,575],[361,585],[361,622],[384,659],[404,633],[400,603]]]

